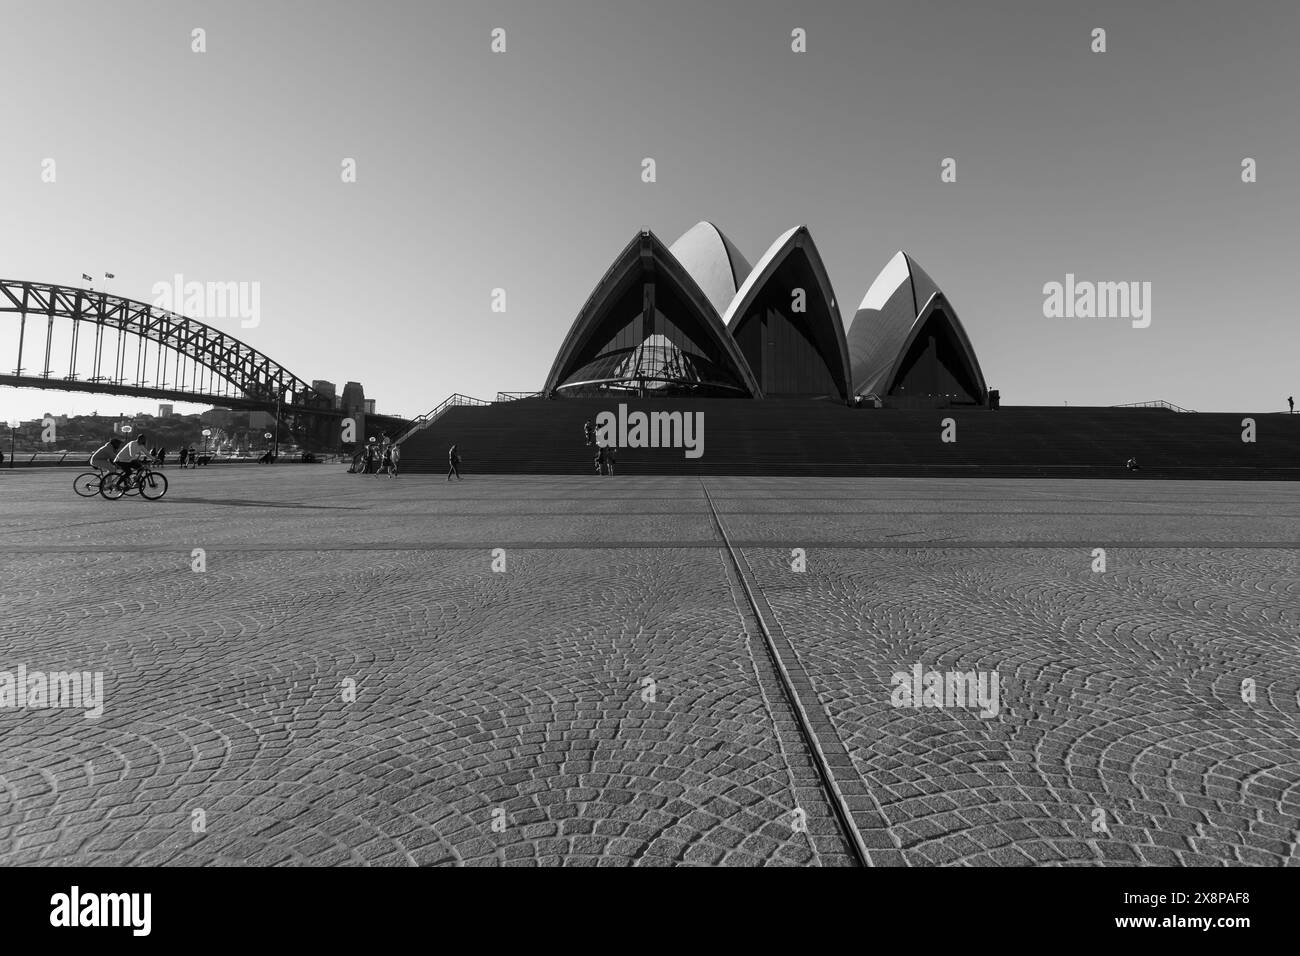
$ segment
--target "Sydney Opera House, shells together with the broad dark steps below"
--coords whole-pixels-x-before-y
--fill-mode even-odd
[[[1136,458],[1144,477],[1300,479],[1300,419],[1244,444],[1239,414],[1004,407],[915,259],[846,324],[805,226],[754,264],[711,222],[671,246],[638,232],[543,386],[447,399],[400,437],[403,468],[446,471],[455,444],[478,472],[592,473],[589,425],[620,473],[1124,477]]]

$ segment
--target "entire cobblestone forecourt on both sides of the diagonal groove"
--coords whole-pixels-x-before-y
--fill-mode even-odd
[[[105,710],[0,709],[4,865],[852,864],[715,510],[874,862],[1300,861],[1300,488],[73,473],[0,472],[0,671]]]

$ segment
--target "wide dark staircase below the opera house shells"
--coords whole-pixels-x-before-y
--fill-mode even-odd
[[[628,411],[703,414],[703,455],[620,447],[630,475],[967,475],[975,477],[1300,479],[1300,415],[1166,408],[849,408],[801,399],[629,399]],[[404,472],[446,472],[455,442],[472,473],[592,473],[584,421],[614,398],[525,398],[447,407],[402,444]],[[942,420],[956,441],[941,441]],[[1256,441],[1242,441],[1244,418]]]

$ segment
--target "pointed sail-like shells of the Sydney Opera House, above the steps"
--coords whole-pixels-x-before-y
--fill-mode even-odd
[[[845,333],[806,226],[750,265],[711,222],[672,246],[649,230],[627,245],[573,320],[543,392],[887,407],[989,398],[957,312],[906,252],[876,277]]]

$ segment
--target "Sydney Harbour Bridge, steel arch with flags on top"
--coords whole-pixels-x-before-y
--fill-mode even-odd
[[[0,280],[17,362],[0,385],[194,402],[277,415],[304,449],[341,446],[339,407],[270,356],[196,319],[94,289]],[[10,328],[5,328],[5,326]]]

